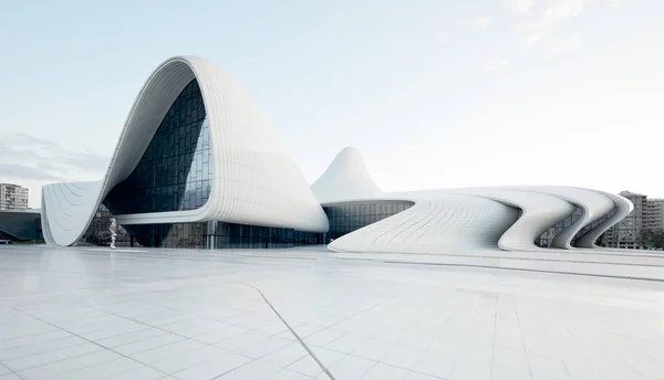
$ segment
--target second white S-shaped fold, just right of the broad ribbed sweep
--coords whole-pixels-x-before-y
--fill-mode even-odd
[[[556,196],[509,188],[459,189],[458,192],[485,197],[521,209],[519,220],[498,241],[498,246],[505,251],[538,250],[535,241],[577,209]]]

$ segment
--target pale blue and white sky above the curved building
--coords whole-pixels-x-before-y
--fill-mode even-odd
[[[312,183],[357,148],[385,191],[664,197],[664,1],[0,2],[0,182],[101,179],[156,66],[251,93]]]

